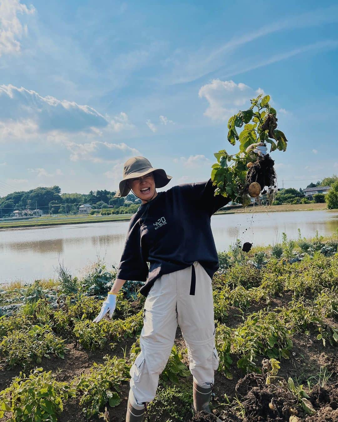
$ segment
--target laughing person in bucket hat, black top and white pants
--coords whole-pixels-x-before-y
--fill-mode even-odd
[[[251,149],[256,147],[255,152],[265,154],[266,147],[257,145]],[[170,179],[146,158],[133,157],[125,162],[120,190],[115,195],[124,197],[132,190],[142,205],[131,217],[116,280],[94,322],[107,312],[112,317],[117,292],[125,280],[146,282],[140,289],[147,299],[141,352],[130,371],[126,422],[142,421],[147,413],[147,403],[155,397],[159,375],[169,359],[177,325],[188,349],[194,411],[211,413],[209,403],[218,368],[211,281],[218,269],[218,257],[210,218],[229,200],[214,195],[211,180],[156,192]]]

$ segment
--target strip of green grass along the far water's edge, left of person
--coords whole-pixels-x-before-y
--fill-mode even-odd
[[[57,217],[38,217],[28,221],[11,221],[0,222],[0,229],[13,229],[21,227],[45,227],[67,224],[84,224],[84,223],[101,223],[106,221],[129,221],[132,214],[113,214],[98,216],[57,216]]]

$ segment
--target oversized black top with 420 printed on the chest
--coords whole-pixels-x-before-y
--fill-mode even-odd
[[[144,296],[156,279],[195,261],[213,278],[219,265],[210,218],[229,202],[215,189],[211,179],[183,184],[142,204],[131,217],[117,278],[146,281]]]

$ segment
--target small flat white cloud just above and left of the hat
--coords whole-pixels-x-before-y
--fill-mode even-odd
[[[116,162],[121,158],[140,155],[139,151],[125,143],[93,141],[90,143],[68,142],[65,146],[71,151],[71,161]]]

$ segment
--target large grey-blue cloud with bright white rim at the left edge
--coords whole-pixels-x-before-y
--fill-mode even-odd
[[[90,106],[74,101],[42,97],[35,91],[13,85],[0,85],[0,139],[41,140],[64,143],[75,135],[93,139],[111,136],[134,125],[126,113],[103,116]]]

